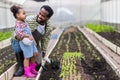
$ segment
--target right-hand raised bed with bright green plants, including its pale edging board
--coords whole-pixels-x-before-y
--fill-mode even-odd
[[[113,26],[87,24],[86,29],[95,35],[107,47],[120,55],[120,33]]]

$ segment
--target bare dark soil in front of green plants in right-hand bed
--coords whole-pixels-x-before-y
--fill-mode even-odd
[[[118,32],[99,32],[102,37],[106,38],[107,40],[111,41],[112,43],[116,44],[120,47],[120,33]]]

